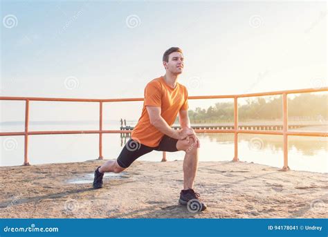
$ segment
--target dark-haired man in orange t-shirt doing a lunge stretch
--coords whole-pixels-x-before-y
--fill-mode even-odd
[[[177,82],[183,71],[183,53],[180,48],[172,47],[163,55],[163,66],[166,73],[153,79],[145,87],[143,111],[131,139],[122,149],[117,160],[108,160],[95,170],[93,188],[102,187],[104,172],[120,173],[127,169],[134,160],[151,151],[185,151],[183,160],[183,190],[179,203],[187,205],[194,199],[199,204],[199,210],[206,205],[195,193],[194,178],[197,173],[199,139],[190,128],[188,117],[188,91]],[[179,113],[181,130],[171,128]],[[190,202],[191,203],[191,202]]]

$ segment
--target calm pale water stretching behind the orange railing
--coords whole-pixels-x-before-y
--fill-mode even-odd
[[[133,126],[134,123],[129,123]],[[104,129],[119,129],[120,122],[108,122]],[[23,131],[24,125],[1,125],[1,131]],[[31,124],[30,131],[98,130],[96,122],[89,124]],[[82,162],[98,158],[98,134],[30,135],[30,164]],[[128,138],[126,139],[128,140]],[[199,133],[200,161],[233,160],[234,137],[230,133]],[[0,166],[21,165],[24,162],[24,137],[0,137]],[[105,159],[117,158],[125,139],[120,134],[104,134],[102,153]],[[121,146],[122,144],[122,146]],[[281,135],[239,134],[239,160],[283,166]],[[293,170],[328,173],[327,138],[289,136],[289,167]],[[184,152],[167,153],[168,160],[183,160]],[[161,161],[162,153],[152,151],[139,160]]]

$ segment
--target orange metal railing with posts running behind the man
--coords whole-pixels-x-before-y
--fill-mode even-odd
[[[205,95],[205,96],[190,96],[188,99],[234,99],[234,129],[196,129],[196,133],[234,133],[235,134],[235,156],[233,161],[238,161],[238,134],[239,133],[251,133],[251,134],[268,134],[268,135],[283,135],[284,138],[284,166],[282,170],[289,170],[288,166],[288,136],[315,136],[315,137],[327,137],[326,133],[321,132],[308,132],[308,131],[289,131],[288,130],[288,104],[287,95],[295,93],[313,93],[320,91],[328,91],[328,87],[325,88],[307,88],[300,90],[290,91],[273,91],[265,93],[251,93],[242,95]],[[250,131],[239,129],[238,124],[238,98],[244,97],[259,97],[267,95],[282,95],[282,108],[283,108],[283,126],[282,131]],[[104,133],[131,133],[131,131],[122,130],[102,130],[102,104],[105,102],[136,102],[143,101],[143,98],[126,98],[126,99],[66,99],[66,98],[45,98],[45,97],[0,97],[0,100],[19,100],[25,101],[25,131],[24,132],[4,132],[0,133],[0,136],[12,136],[12,135],[24,135],[24,165],[30,165],[28,159],[28,136],[29,135],[51,135],[51,134],[78,134],[78,133],[98,133],[99,134],[99,158],[102,159],[102,134]],[[28,131],[29,122],[29,110],[30,101],[46,101],[46,102],[93,102],[99,103],[99,130],[91,131]],[[163,152],[163,158],[165,159],[165,152]]]

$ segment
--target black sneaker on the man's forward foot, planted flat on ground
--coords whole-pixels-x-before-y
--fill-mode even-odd
[[[206,210],[206,204],[199,199],[199,193],[195,193],[194,189],[181,190],[179,203],[187,205],[188,211],[197,213]]]

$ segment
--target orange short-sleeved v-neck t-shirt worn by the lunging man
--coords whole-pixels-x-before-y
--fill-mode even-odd
[[[172,88],[166,84],[164,77],[153,79],[145,87],[143,112],[138,124],[131,133],[131,138],[145,146],[156,147],[161,142],[164,133],[150,124],[146,106],[161,107],[161,116],[172,126],[180,110],[188,110],[188,91],[185,86],[176,83]]]

